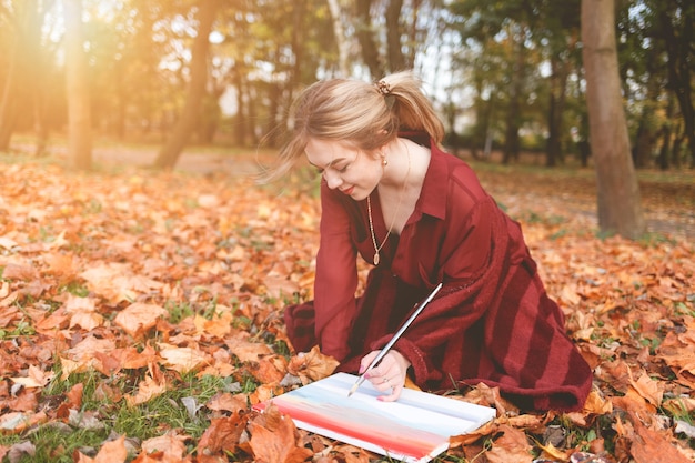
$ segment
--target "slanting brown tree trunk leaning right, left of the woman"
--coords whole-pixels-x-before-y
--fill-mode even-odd
[[[219,6],[220,0],[200,0],[198,2],[199,24],[198,36],[191,50],[191,81],[189,82],[183,111],[172,130],[171,137],[154,161],[154,167],[158,169],[173,169],[195,128],[208,81],[210,32]]]

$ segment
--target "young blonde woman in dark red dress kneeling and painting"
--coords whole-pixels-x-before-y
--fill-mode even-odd
[[[412,73],[316,82],[292,119],[274,177],[302,155],[323,177],[314,300],[284,312],[296,351],[319,344],[340,371],[362,373],[441,282],[367,372],[382,400],[396,400],[410,374],[434,392],[484,382],[525,410],[582,407],[591,369],[518,223],[441,150],[443,125]],[[355,296],[357,254],[374,268]]]

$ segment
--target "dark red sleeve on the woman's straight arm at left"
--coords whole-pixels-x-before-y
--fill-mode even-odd
[[[315,334],[321,351],[342,361],[350,353],[349,335],[356,316],[356,248],[349,211],[323,182],[321,208],[314,281]]]

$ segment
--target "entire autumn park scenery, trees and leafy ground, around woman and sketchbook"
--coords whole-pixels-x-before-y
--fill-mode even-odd
[[[414,69],[596,376],[576,414],[452,392],[498,416],[443,460],[691,461],[694,19],[685,0],[0,0],[0,455],[374,459],[249,411],[333,365],[281,323],[312,294],[315,178],[249,178],[306,84]]]

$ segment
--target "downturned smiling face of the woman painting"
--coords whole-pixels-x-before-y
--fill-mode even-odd
[[[384,173],[380,157],[338,141],[310,139],[305,152],[330,189],[339,189],[355,201],[365,199]]]

